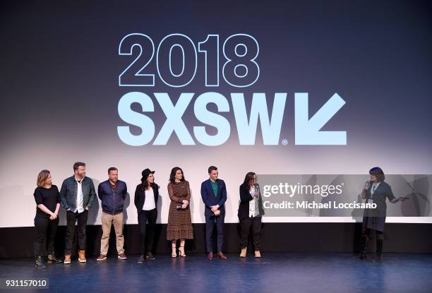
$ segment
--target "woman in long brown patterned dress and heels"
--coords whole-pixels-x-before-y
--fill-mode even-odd
[[[179,255],[185,257],[184,243],[186,239],[193,239],[191,210],[191,189],[189,182],[184,179],[183,170],[174,167],[169,175],[168,194],[171,203],[169,205],[167,240],[171,241],[171,256],[177,256],[176,243],[180,239]]]

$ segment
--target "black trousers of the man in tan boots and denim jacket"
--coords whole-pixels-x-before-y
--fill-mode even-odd
[[[73,213],[73,211],[66,211],[66,248],[64,254],[66,256],[71,255],[73,237],[75,236],[75,223],[78,220],[78,249],[85,250],[85,228],[87,227],[88,210],[84,210],[83,213]]]

